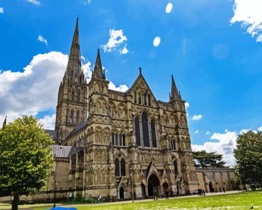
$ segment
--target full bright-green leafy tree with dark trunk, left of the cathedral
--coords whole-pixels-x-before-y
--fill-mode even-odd
[[[21,195],[45,185],[53,163],[52,144],[32,116],[18,118],[0,130],[0,196],[14,196],[12,210],[17,210]]]

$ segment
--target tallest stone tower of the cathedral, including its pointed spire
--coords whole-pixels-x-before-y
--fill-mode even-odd
[[[55,130],[62,144],[73,128],[87,118],[87,82],[81,69],[78,18],[74,29],[67,68],[58,92]]]

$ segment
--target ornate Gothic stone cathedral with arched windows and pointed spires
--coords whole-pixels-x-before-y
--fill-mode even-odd
[[[170,101],[162,102],[141,68],[132,87],[119,92],[108,89],[99,50],[89,83],[80,57],[77,21],[55,123],[57,144],[77,147],[70,154],[68,181],[75,196],[130,198],[132,184],[136,198],[155,190],[162,195],[166,188],[172,194],[196,192],[185,101],[173,75]]]

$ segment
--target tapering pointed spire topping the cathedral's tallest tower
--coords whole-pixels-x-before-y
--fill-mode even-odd
[[[79,29],[78,17],[76,28],[74,29],[73,40],[69,53],[68,63],[66,67],[66,74],[70,82],[74,82],[74,78],[80,78],[81,75],[81,54],[79,44]]]

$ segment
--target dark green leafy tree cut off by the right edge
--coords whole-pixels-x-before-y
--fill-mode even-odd
[[[238,135],[234,154],[243,184],[262,183],[262,132]]]

